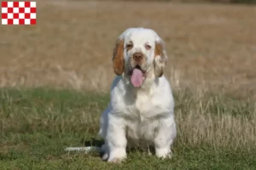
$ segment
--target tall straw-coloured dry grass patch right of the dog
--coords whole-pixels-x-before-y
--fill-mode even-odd
[[[211,144],[252,150],[256,144],[256,105],[225,98],[179,92],[176,120],[183,144]]]

